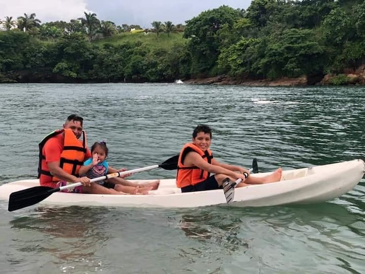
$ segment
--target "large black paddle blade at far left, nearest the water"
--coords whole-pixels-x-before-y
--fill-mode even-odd
[[[14,211],[29,205],[34,205],[58,190],[59,188],[53,189],[39,186],[13,192],[9,196],[8,210]]]

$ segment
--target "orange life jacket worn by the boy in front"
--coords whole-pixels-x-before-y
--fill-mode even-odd
[[[198,182],[201,182],[210,176],[210,173],[208,171],[200,169],[196,166],[184,166],[182,164],[185,156],[190,151],[195,151],[196,153],[198,153],[207,163],[210,164],[212,162],[213,154],[209,148],[204,152],[193,143],[185,144],[180,151],[178,161],[178,171],[176,174],[176,186],[178,188],[183,188],[190,185],[194,186]]]

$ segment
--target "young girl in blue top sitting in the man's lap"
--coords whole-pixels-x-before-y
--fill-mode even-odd
[[[106,158],[108,157],[108,147],[106,142],[95,142],[91,146],[91,156],[92,158],[89,158],[84,162],[84,165],[80,167],[79,174],[82,174],[83,176],[87,176],[88,178],[96,178],[105,176],[110,173],[114,173],[117,171],[124,171],[125,169],[117,170],[111,166],[109,166],[108,162],[106,161]],[[111,179],[109,179],[111,180]],[[117,184],[114,184],[110,181],[103,182],[102,185],[109,189],[114,189],[118,192],[123,192],[126,194],[148,194],[148,191],[153,189],[153,186],[150,187],[140,187],[138,184],[134,184],[127,180],[114,180]],[[123,186],[122,183],[126,182],[128,186]]]

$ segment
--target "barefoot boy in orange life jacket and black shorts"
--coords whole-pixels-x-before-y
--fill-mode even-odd
[[[176,175],[176,185],[181,188],[181,192],[219,189],[226,177],[231,181],[241,178],[242,181],[237,187],[280,180],[281,168],[265,177],[248,176],[246,178],[243,173],[249,174],[249,170],[240,166],[223,164],[213,158],[212,151],[209,149],[211,142],[210,127],[198,125],[192,133],[192,142],[185,144],[181,149]],[[214,175],[210,176],[210,173]]]

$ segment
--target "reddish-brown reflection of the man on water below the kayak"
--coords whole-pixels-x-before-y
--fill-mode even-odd
[[[92,261],[99,246],[108,240],[108,224],[103,208],[37,207],[35,212],[14,218],[11,228],[20,234],[32,235],[37,240],[17,246],[21,253],[41,253],[52,261],[70,264],[62,269],[75,269],[75,265],[95,265],[102,270],[101,262]]]

